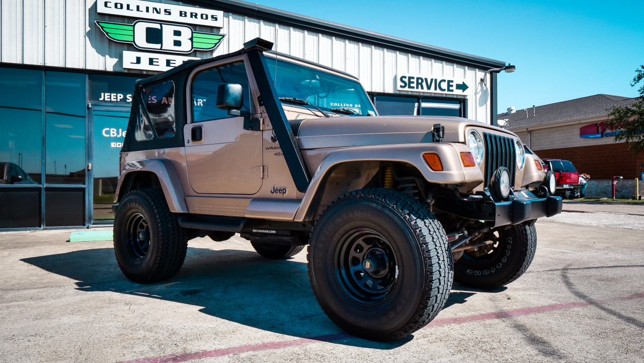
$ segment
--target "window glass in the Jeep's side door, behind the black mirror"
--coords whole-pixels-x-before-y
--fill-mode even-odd
[[[193,81],[193,123],[227,119],[232,117],[226,110],[217,108],[217,88],[220,84],[241,84],[243,90],[242,111],[250,112],[251,88],[243,62],[224,64],[197,74]]]

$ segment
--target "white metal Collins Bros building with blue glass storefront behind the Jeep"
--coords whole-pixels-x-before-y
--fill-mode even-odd
[[[381,115],[496,123],[493,59],[237,0],[0,4],[0,230],[111,223],[134,81],[255,37],[355,75]]]

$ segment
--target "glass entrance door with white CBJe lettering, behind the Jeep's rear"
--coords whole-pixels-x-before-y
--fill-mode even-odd
[[[93,106],[91,144],[92,224],[114,221],[112,203],[120,172],[119,153],[128,128],[129,106]]]

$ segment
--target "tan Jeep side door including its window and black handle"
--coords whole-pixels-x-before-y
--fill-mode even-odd
[[[185,161],[196,193],[254,194],[261,187],[261,131],[244,130],[244,117],[217,108],[220,84],[241,84],[242,113],[256,113],[249,84],[250,67],[243,56],[205,64],[190,76],[191,106],[184,127]]]

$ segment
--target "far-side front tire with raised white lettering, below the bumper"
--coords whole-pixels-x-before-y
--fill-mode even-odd
[[[454,280],[463,286],[494,289],[505,286],[526,272],[536,252],[536,228],[531,222],[500,230],[498,251],[477,260],[465,251],[454,265]]]

